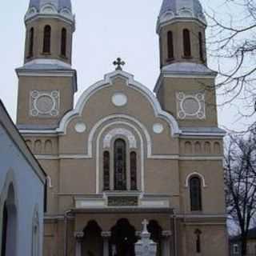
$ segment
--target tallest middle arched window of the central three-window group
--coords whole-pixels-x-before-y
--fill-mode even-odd
[[[126,142],[114,142],[114,190],[126,190]]]

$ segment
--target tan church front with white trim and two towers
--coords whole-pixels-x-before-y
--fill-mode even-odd
[[[228,254],[214,78],[198,0],[165,0],[154,93],[122,70],[74,107],[70,0],[31,0],[17,70],[18,128],[49,178],[44,255],[134,255],[149,222],[158,255]]]

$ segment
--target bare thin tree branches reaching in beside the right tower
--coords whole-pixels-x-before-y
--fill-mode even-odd
[[[218,59],[216,86],[225,96],[222,104],[240,100],[240,114],[250,118],[256,115],[256,1],[226,0],[206,15],[209,53]]]

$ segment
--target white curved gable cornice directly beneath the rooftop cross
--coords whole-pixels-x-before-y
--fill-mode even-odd
[[[57,129],[57,131],[59,133],[66,134],[67,125],[73,118],[82,115],[82,110],[84,109],[84,106],[86,105],[86,102],[89,100],[89,98],[93,94],[95,94],[98,90],[101,90],[103,87],[106,88],[107,85],[112,86],[114,79],[118,77],[126,78],[127,86],[130,86],[134,90],[138,90],[148,99],[148,101],[150,102],[151,106],[154,109],[155,117],[162,118],[168,123],[168,125],[170,126],[172,136],[178,135],[181,133],[181,131],[178,128],[178,122],[175,120],[175,118],[171,114],[162,110],[160,103],[158,102],[157,98],[155,98],[154,94],[145,86],[142,86],[141,83],[136,82],[132,74],[128,74],[122,70],[116,70],[110,74],[106,74],[104,80],[100,82],[96,82],[93,86],[90,86],[90,88],[86,90],[82,94],[82,96],[79,98],[75,109],[67,113],[62,118],[62,121],[60,122],[60,126]]]

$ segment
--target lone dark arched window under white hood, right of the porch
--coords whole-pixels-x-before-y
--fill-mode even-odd
[[[201,179],[190,178],[190,206],[191,211],[202,210]]]

